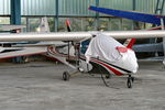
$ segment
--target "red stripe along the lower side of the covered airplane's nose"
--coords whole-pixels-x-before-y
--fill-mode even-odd
[[[101,64],[102,66],[105,66],[105,67],[107,67],[108,69],[110,69],[111,72],[113,72],[117,76],[122,76],[122,75],[123,75],[123,74],[120,73],[119,70],[117,70],[117,69],[110,67],[109,65],[107,65],[107,64],[105,64],[105,63],[102,63],[102,62],[95,61],[95,59],[92,59],[91,62],[95,62],[95,63],[97,63],[97,64]]]

